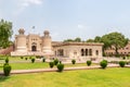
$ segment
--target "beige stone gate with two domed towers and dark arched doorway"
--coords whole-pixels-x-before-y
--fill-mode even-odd
[[[36,34],[25,35],[25,30],[21,28],[18,35],[15,36],[14,49],[11,55],[48,55],[53,54],[51,46],[51,36],[44,30],[43,36]]]

